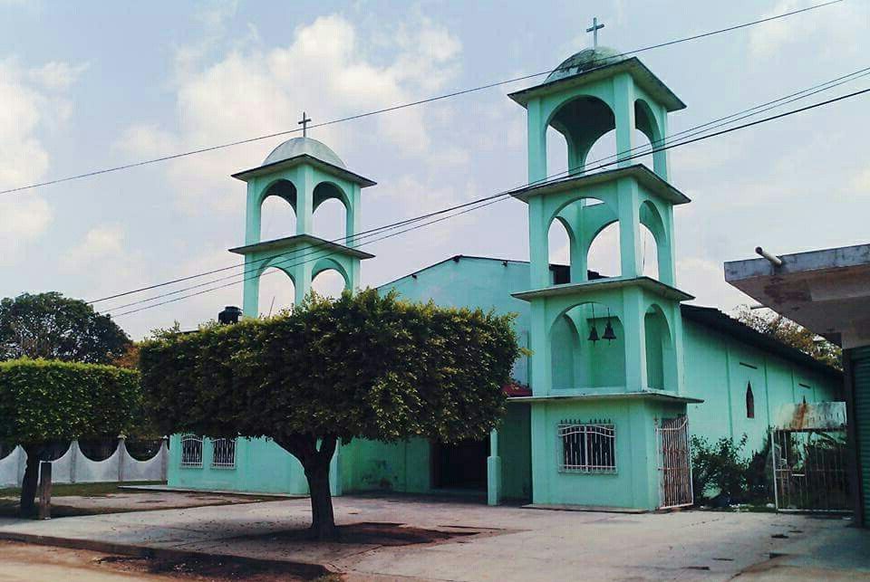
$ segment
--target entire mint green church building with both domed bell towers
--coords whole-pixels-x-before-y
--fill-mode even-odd
[[[490,504],[580,505],[654,510],[692,502],[691,434],[763,446],[778,407],[839,399],[842,378],[795,348],[719,310],[687,305],[677,286],[674,206],[690,202],[669,182],[667,151],[637,164],[636,131],[668,143],[668,114],[683,102],[636,57],[596,47],[578,52],[544,82],[509,95],[527,112],[528,186],[511,193],[528,209],[529,262],[454,256],[382,285],[413,301],[515,312],[520,358],[505,386],[507,416],[484,442],[383,444],[357,439],[333,457],[333,494],[354,491],[486,493]],[[565,137],[569,171],[547,168],[546,131]],[[587,159],[615,131],[615,163]],[[587,167],[588,166],[588,167]],[[600,171],[599,171],[600,170]],[[258,274],[278,268],[296,301],[326,270],[359,287],[362,188],[372,180],[345,167],[313,138],[293,138],[247,183],[244,314],[257,317]],[[293,206],[296,234],[260,240],[268,196]],[[345,244],[312,233],[325,200],[346,209]],[[549,261],[548,233],[568,234],[570,264]],[[619,272],[591,272],[589,249],[619,226]],[[644,275],[643,228],[656,247],[656,276]],[[690,282],[691,281],[686,281]],[[211,491],[306,492],[295,458],[265,440],[172,437],[169,486]]]

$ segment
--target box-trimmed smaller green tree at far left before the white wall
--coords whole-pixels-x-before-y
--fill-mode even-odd
[[[34,514],[39,463],[57,441],[112,436],[139,421],[133,370],[97,364],[16,359],[0,362],[0,442],[27,453],[22,516]]]

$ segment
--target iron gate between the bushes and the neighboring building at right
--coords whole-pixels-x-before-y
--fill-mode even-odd
[[[852,510],[846,468],[846,433],[770,431],[777,510]]]

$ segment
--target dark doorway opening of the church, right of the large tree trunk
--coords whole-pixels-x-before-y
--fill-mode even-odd
[[[432,444],[432,486],[435,489],[486,491],[489,437],[482,441]]]

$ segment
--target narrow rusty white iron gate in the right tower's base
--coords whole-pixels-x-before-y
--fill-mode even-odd
[[[685,507],[694,502],[691,491],[689,418],[662,418],[655,426],[659,449],[659,509]]]

